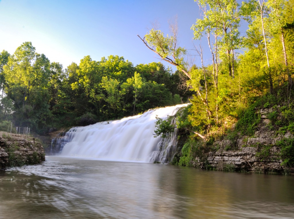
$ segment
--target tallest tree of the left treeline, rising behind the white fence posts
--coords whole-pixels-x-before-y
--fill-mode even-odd
[[[14,101],[16,118],[32,128],[44,125],[49,111],[48,81],[50,61],[35,52],[31,42],[24,42],[4,66],[6,93]]]

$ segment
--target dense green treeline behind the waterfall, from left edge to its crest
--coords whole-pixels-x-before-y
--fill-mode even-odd
[[[84,56],[63,69],[35,50],[24,42],[12,55],[0,53],[0,119],[36,132],[175,105],[191,93],[179,91],[178,73],[160,62],[133,66],[119,56]]]

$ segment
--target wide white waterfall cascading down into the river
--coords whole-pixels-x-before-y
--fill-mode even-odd
[[[69,142],[61,156],[108,161],[168,163],[176,147],[176,132],[167,139],[154,138],[156,116],[166,119],[186,104],[149,110],[142,115],[74,127],[66,134]]]

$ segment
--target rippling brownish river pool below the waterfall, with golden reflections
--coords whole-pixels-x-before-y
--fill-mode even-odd
[[[293,218],[294,177],[46,157],[0,172],[0,218]]]

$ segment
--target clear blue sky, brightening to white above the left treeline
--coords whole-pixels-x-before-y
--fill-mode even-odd
[[[87,55],[96,61],[123,56],[134,66],[158,62],[137,34],[143,37],[152,22],[167,34],[168,21],[175,16],[179,46],[193,49],[190,28],[199,18],[193,0],[0,0],[0,50],[13,54],[31,41],[36,52],[64,68],[71,62],[79,64]]]

